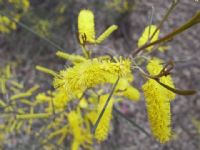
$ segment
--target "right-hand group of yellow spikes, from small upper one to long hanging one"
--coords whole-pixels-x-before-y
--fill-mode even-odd
[[[160,33],[160,30],[156,30],[157,27],[155,25],[147,26],[138,40],[138,47],[142,47],[148,41],[156,41]],[[152,35],[154,36],[152,37]],[[146,49],[146,52],[151,53],[153,50],[154,46],[150,46]],[[158,50],[163,52],[166,50],[166,47],[159,46]],[[164,68],[162,64],[163,61],[159,58],[154,57],[149,59],[146,66],[149,75],[152,77],[159,75]],[[159,81],[174,88],[174,83],[170,75],[159,77]],[[142,86],[142,90],[146,100],[148,120],[152,134],[161,143],[168,142],[172,136],[170,102],[175,99],[175,94],[151,78],[148,78]]]

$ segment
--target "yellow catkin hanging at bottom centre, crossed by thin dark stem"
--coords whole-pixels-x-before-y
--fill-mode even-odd
[[[100,97],[100,102],[98,105],[98,113],[97,113],[97,118],[100,115],[107,99],[108,99],[108,94],[103,95]],[[112,108],[113,108],[113,99],[110,99],[108,106],[106,107],[106,110],[95,130],[95,138],[98,141],[104,141],[106,140],[108,133],[109,133],[109,129],[110,129],[110,120],[112,118]]]

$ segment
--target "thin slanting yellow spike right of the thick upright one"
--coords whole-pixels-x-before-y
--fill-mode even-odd
[[[96,40],[96,43],[101,43],[103,42],[111,33],[113,33],[115,30],[118,29],[117,25],[112,25],[106,31],[104,31]]]

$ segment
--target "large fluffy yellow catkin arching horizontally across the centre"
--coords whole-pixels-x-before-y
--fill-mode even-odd
[[[119,58],[111,60],[87,60],[74,67],[62,70],[54,79],[56,88],[64,88],[68,96],[83,93],[87,88],[110,83],[115,77],[126,77],[131,74],[130,60]]]

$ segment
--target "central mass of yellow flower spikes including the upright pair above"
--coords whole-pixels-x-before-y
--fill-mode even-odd
[[[79,36],[80,44],[102,42],[116,27],[115,25],[111,26],[99,38],[95,39],[93,13],[90,10],[81,10],[78,17],[79,34],[82,35]],[[140,98],[139,91],[131,85],[133,75],[130,59],[108,56],[87,58],[62,51],[58,51],[56,55],[70,61],[73,65],[66,67],[59,73],[42,66],[36,66],[37,70],[54,77],[53,85],[55,87],[51,96],[40,93],[36,99],[39,101],[52,99],[54,111],[56,113],[64,111],[64,116],[67,116],[65,120],[68,123],[65,128],[66,132],[73,136],[72,149],[92,145],[94,139],[99,142],[106,140],[110,131],[113,104],[124,98],[133,101]],[[114,85],[118,78],[120,79],[114,94],[93,135],[91,130],[109,97],[109,92],[104,90],[102,86]],[[66,112],[68,108],[70,110]],[[61,132],[58,129],[50,133],[47,140],[61,134],[59,131]]]

